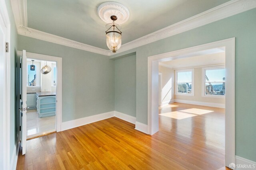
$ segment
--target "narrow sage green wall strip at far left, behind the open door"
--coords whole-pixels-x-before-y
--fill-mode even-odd
[[[16,56],[18,47],[17,29],[12,13],[10,0],[5,0],[10,19],[10,159],[14,150],[18,151],[17,119],[16,119]]]

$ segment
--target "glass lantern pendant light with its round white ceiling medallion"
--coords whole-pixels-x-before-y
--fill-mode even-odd
[[[102,21],[108,23],[106,25],[106,43],[108,48],[113,53],[116,53],[122,45],[120,24],[125,23],[129,19],[130,12],[123,4],[110,1],[100,4],[98,15]]]

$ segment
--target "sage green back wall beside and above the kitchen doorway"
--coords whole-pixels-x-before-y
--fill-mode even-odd
[[[62,57],[62,121],[114,111],[109,57],[18,35],[18,50]]]

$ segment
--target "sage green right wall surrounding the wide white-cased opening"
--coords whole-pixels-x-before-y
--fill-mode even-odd
[[[136,52],[136,120],[147,124],[148,57],[236,37],[236,155],[256,161],[256,9],[115,56]]]

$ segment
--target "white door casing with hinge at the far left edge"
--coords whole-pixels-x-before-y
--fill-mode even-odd
[[[4,41],[4,43],[8,42],[9,43],[9,51],[5,52],[4,49],[4,44],[3,47],[1,47],[1,49],[3,49],[4,51],[3,54],[0,54],[2,56],[0,56],[0,70],[1,70],[1,75],[0,77],[3,78],[1,80],[1,86],[2,89],[1,90],[1,96],[0,96],[0,101],[2,102],[2,104],[0,105],[1,107],[1,123],[0,123],[0,128],[1,131],[3,133],[0,134],[0,169],[10,169],[10,126],[11,126],[11,122],[10,122],[10,47],[11,47],[11,43],[10,43],[10,18],[8,15],[8,10],[5,4],[4,0],[0,1],[0,18],[1,18],[1,30],[3,31],[2,35],[4,36],[4,39],[2,39],[2,41]]]

